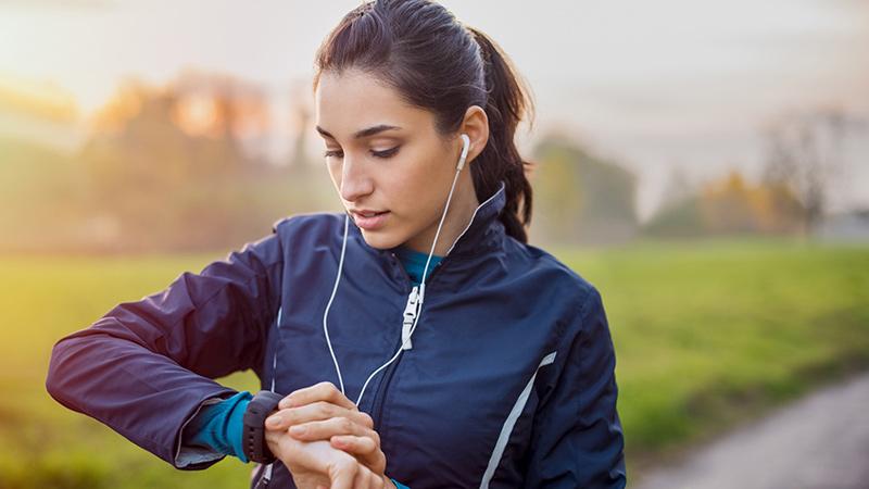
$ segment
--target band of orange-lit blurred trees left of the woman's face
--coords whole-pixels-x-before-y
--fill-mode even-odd
[[[0,184],[11,184],[0,185],[11,229],[0,248],[227,249],[281,216],[338,208],[326,172],[266,160],[268,104],[254,84],[197,72],[163,87],[128,79],[90,123],[73,155],[0,139]]]

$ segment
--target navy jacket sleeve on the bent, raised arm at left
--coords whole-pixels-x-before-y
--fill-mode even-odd
[[[176,468],[181,430],[202,405],[236,392],[212,380],[259,373],[277,314],[284,261],[277,234],[247,243],[165,290],[124,302],[60,339],[46,388]]]

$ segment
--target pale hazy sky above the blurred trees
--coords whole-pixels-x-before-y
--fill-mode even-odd
[[[281,105],[357,3],[0,0],[0,80],[55,84],[86,116],[126,77],[164,84],[192,67],[254,80]],[[441,3],[531,86],[537,118],[520,147],[568,130],[639,175],[641,217],[676,166],[696,181],[756,175],[760,130],[782,114],[836,105],[869,121],[866,0]],[[843,145],[831,208],[869,206],[869,124]]]

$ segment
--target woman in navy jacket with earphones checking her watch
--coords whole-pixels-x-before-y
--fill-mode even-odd
[[[178,468],[261,462],[252,485],[624,487],[601,296],[527,243],[506,57],[439,4],[377,0],[316,66],[347,213],[118,304],[58,342],[49,392]],[[255,397],[212,380],[245,368]]]

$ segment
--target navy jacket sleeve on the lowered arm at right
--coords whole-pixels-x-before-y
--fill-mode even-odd
[[[565,335],[569,344],[562,347],[563,362],[556,361],[563,369],[534,414],[528,488],[626,486],[625,440],[616,411],[616,358],[594,287],[577,321],[581,322],[578,334]]]

